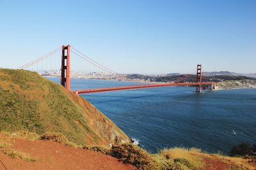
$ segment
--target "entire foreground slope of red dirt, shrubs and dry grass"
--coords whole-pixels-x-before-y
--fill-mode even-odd
[[[42,141],[39,137],[33,132],[0,131],[0,169],[4,169],[4,166],[7,169],[254,170],[256,168],[253,157],[245,159],[227,157],[204,153],[197,148],[170,148],[150,154],[132,143],[113,145],[112,148],[100,146],[74,148],[65,146],[64,143]]]

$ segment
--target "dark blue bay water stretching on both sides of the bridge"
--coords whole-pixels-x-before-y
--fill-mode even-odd
[[[60,78],[49,78],[60,82]],[[72,79],[72,89],[138,85]],[[156,153],[173,146],[228,154],[241,142],[256,143],[256,89],[205,90],[158,87],[81,95],[139,146]]]

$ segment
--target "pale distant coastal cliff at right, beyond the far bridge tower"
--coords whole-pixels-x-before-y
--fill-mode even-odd
[[[216,84],[219,89],[255,88],[256,80],[228,80]]]

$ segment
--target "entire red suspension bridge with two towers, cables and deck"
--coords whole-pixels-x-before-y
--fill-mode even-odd
[[[60,57],[59,55],[56,55],[56,53],[61,52],[61,65],[58,64],[58,60],[56,60],[56,57]],[[83,64],[84,62],[81,62],[79,60],[72,60],[72,63],[74,61],[75,70],[71,71],[70,67],[70,53],[73,53],[74,55],[78,56],[79,59],[86,61],[87,64],[90,64],[90,66]],[[52,57],[55,55],[56,57]],[[52,59],[52,58],[55,58]],[[53,64],[52,64],[53,60]],[[51,62],[50,64],[48,62]],[[82,67],[78,67],[77,65],[82,63]],[[41,69],[38,69],[41,66]],[[61,67],[60,67],[61,66]],[[84,68],[88,67],[96,67],[97,71],[86,71]],[[46,67],[46,68],[45,68]],[[39,57],[36,60],[33,60],[32,62],[29,62],[28,64],[19,67],[19,69],[29,69],[31,71],[36,71],[42,75],[57,75],[61,76],[61,85],[65,87],[66,89],[70,90],[70,74],[72,73],[73,76],[76,74],[77,77],[89,77],[89,78],[97,78],[97,79],[104,79],[106,76],[111,77],[120,77],[122,74],[118,74],[115,71],[112,71],[111,69],[108,69],[107,67],[102,66],[98,62],[95,62],[90,57],[87,57],[84,55],[84,53],[79,52],[76,50],[76,48],[67,45],[67,46],[61,46],[59,48],[56,48],[50,53],[47,53],[46,55]],[[47,71],[49,70],[49,71]],[[79,76],[78,76],[79,75]],[[189,77],[189,74],[186,74],[177,80],[174,80],[169,83],[154,83],[154,84],[143,84],[143,85],[131,85],[131,86],[120,86],[120,87],[103,87],[103,88],[93,88],[93,89],[80,89],[80,90],[72,90],[75,94],[90,94],[90,93],[97,93],[97,92],[109,92],[109,91],[116,91],[116,90],[130,90],[130,89],[145,89],[145,88],[154,88],[154,87],[169,87],[169,86],[195,86],[196,90],[195,92],[201,92],[202,85],[211,85],[211,89],[215,87],[215,83],[213,82],[203,82],[202,81],[202,65],[198,64],[196,67],[196,79],[195,82],[180,82],[186,80],[186,78]]]

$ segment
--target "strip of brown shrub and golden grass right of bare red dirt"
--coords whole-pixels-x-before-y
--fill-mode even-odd
[[[205,153],[198,148],[166,148],[157,154],[150,154],[133,144],[114,145],[111,149],[102,146],[83,148],[111,155],[136,169],[253,169],[246,159]]]

